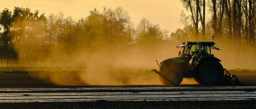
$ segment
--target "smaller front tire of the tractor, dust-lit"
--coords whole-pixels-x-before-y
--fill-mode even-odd
[[[183,72],[177,66],[169,66],[163,71],[165,85],[179,85],[183,80]]]

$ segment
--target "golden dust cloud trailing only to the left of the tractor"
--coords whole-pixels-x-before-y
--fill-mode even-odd
[[[57,85],[162,84],[151,69],[158,69],[155,59],[161,61],[172,54],[171,46],[174,45],[168,40],[127,44],[126,40],[119,38],[107,41],[101,35],[82,39],[88,35],[81,34],[80,39],[74,41],[81,42],[73,43],[72,39],[62,40],[63,33],[55,36],[55,43],[50,45],[50,38],[54,37],[46,33],[49,30],[43,28],[41,23],[19,19],[10,26],[10,35],[15,37],[12,43],[18,54],[18,59],[12,61],[13,65],[42,67],[39,73],[28,69],[32,77]],[[155,27],[160,31],[159,27]],[[101,34],[100,30],[96,32]],[[47,70],[44,67],[52,68]],[[68,71],[67,68],[73,69]]]

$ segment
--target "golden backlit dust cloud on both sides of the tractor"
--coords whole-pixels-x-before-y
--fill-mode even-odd
[[[162,37],[160,40],[139,38],[140,34],[135,35],[134,37],[137,38],[133,39],[111,37],[110,35],[108,37],[111,37],[111,40],[107,40],[103,30],[100,28],[97,30],[97,20],[99,19],[91,21],[87,18],[84,21],[86,22],[84,25],[93,24],[92,26],[96,25],[96,29],[82,31],[78,34],[72,33],[72,31],[82,28],[67,25],[64,29],[62,27],[59,27],[60,30],[55,29],[53,31],[55,35],[51,35],[49,32],[54,28],[44,28],[44,22],[21,20],[18,23],[13,23],[10,27],[10,35],[16,38],[11,43],[14,44],[14,49],[18,54],[18,59],[15,61],[17,63],[14,65],[61,67],[63,69],[60,71],[30,73],[32,77],[57,85],[162,84],[158,75],[151,72],[151,69],[159,69],[155,62],[156,59],[161,62],[167,58],[178,56],[178,51],[182,51],[182,49],[176,48],[176,46],[181,45],[181,41],[171,40],[167,33],[159,29],[157,25],[152,28],[155,27],[154,30],[158,31],[157,33],[162,32],[160,34],[162,36],[159,36]],[[74,22],[72,18],[66,18],[65,21]],[[136,29],[134,30],[136,31]],[[63,32],[59,33],[59,31]],[[148,35],[150,37],[152,34],[141,36]],[[256,68],[255,48],[248,45],[240,45],[239,48],[235,48],[230,46],[230,43],[226,44],[217,43],[216,46],[221,50],[212,52],[222,60],[221,64],[224,68]],[[65,71],[66,67],[83,67],[84,69],[77,72],[74,72],[77,69],[72,69],[73,71],[69,72]],[[181,84],[198,84],[198,82],[194,79],[184,78]]]

